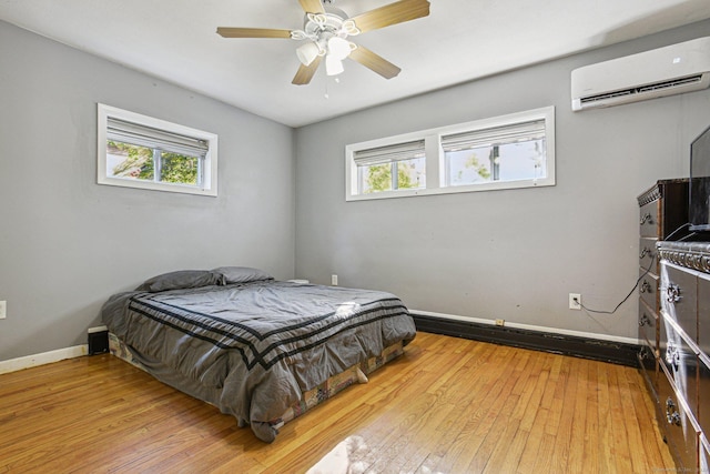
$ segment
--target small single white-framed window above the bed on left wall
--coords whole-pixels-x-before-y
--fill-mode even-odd
[[[217,194],[217,137],[99,104],[99,184]]]

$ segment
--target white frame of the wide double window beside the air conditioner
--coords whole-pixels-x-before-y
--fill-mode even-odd
[[[442,137],[456,133],[485,130],[496,127],[513,125],[536,120],[545,120],[545,178],[496,181],[477,184],[447,185],[446,184],[446,160],[442,147]],[[381,147],[395,145],[398,143],[425,141],[426,155],[426,188],[403,189],[393,191],[381,191],[374,193],[359,193],[358,174],[355,155],[363,150],[376,149]],[[436,129],[422,130],[418,132],[403,133],[395,137],[369,140],[353,143],[345,147],[345,200],[363,201],[372,199],[408,198],[415,195],[449,194],[460,192],[479,192],[503,189],[539,188],[555,185],[555,107],[545,107],[523,112],[510,113],[490,119],[475,120],[455,125],[440,127]]]

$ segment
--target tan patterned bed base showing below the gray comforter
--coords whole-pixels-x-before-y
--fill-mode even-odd
[[[126,345],[115,334],[109,333],[109,352],[114,356],[125,361],[135,367],[149,372],[135,357]],[[404,345],[397,342],[385,350],[376,357],[371,357],[358,365],[354,365],[337,375],[334,375],[320,384],[318,386],[302,394],[301,400],[291,405],[286,412],[278,418],[270,421],[270,424],[278,430],[285,423],[303,415],[308,410],[320,405],[338,392],[347,389],[354,383],[366,383],[367,375],[382,367],[389,361],[404,354]]]

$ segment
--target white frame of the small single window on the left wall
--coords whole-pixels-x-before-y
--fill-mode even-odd
[[[181,134],[207,143],[207,152],[204,157],[203,183],[202,186],[190,184],[166,183],[155,181],[143,181],[124,178],[110,177],[106,173],[106,137],[109,118],[135,123],[139,125],[150,127],[161,131]],[[97,159],[97,177],[99,184],[108,184],[124,188],[139,188],[153,191],[166,191],[186,194],[200,194],[216,196],[217,195],[217,135],[215,133],[205,132],[203,130],[193,129],[165,120],[155,119],[149,115],[131,112],[103,103],[98,104],[98,159]]]

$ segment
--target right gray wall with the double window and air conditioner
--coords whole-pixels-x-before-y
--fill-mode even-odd
[[[636,198],[687,177],[710,91],[570,110],[577,67],[706,36],[710,22],[364,110],[296,131],[296,276],[396,293],[416,310],[636,337]],[[475,61],[475,58],[470,60]],[[433,72],[436,73],[436,72]],[[345,202],[348,143],[556,107],[557,185]]]

